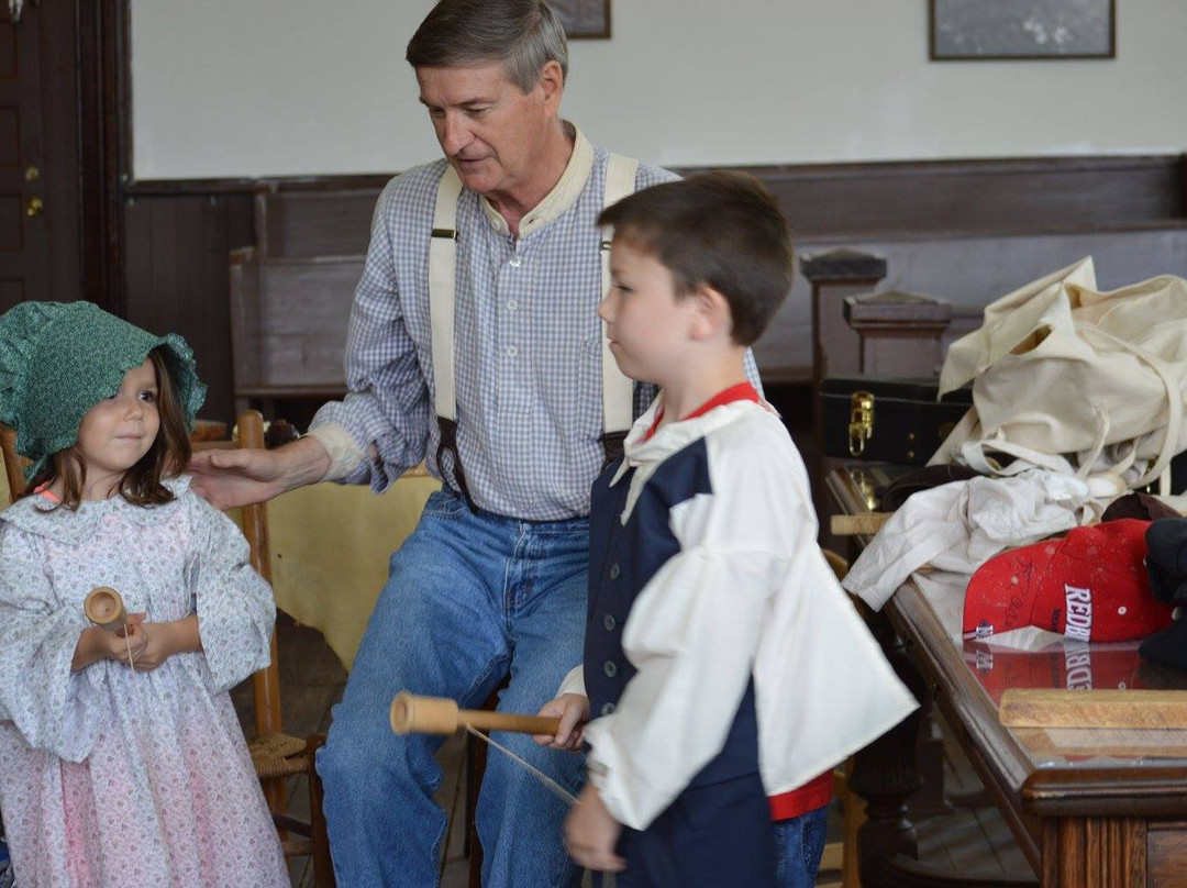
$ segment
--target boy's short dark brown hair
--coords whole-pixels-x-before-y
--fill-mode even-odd
[[[597,222],[654,255],[678,296],[702,285],[722,293],[740,345],[754,344],[792,288],[787,220],[753,176],[710,172],[653,185],[608,207]]]

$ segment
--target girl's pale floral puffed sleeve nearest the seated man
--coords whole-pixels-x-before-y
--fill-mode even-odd
[[[188,582],[198,615],[211,693],[221,693],[271,661],[277,605],[272,588],[249,563],[235,522],[189,494],[196,541]]]

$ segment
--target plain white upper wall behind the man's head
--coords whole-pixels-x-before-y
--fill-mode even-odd
[[[429,0],[133,0],[139,179],[436,154],[404,62]],[[666,165],[1178,152],[1187,1],[1119,0],[1117,59],[927,61],[926,0],[612,0],[566,116]]]

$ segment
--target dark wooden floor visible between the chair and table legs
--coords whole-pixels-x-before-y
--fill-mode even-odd
[[[347,673],[337,657],[313,629],[297,626],[281,615],[278,621],[280,648],[280,690],[285,729],[296,736],[325,731],[330,708],[342,697]],[[235,706],[246,728],[252,725],[250,683],[233,691]],[[941,725],[942,729],[942,725]],[[952,795],[975,795],[980,784],[959,747],[945,734],[945,789]],[[442,749],[445,781],[437,801],[453,811],[452,829],[445,849],[442,888],[465,888],[468,861],[462,856],[462,820],[465,807],[462,761],[464,740],[451,738]],[[497,753],[493,753],[497,754]],[[305,778],[293,778],[288,787],[290,810],[306,814]],[[831,832],[837,833],[837,818]],[[1029,873],[1021,850],[992,806],[958,807],[952,814],[916,824],[920,860],[966,875],[989,877],[1021,876]],[[293,888],[311,888],[312,871],[304,860],[290,861]],[[820,884],[836,881],[834,873],[821,873]],[[586,880],[588,882],[588,880]]]

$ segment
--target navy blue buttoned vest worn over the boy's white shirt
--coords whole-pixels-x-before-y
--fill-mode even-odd
[[[621,515],[635,470],[617,484],[610,481],[622,459],[594,482],[590,503],[590,594],[585,621],[585,693],[594,718],[614,711],[636,670],[622,649],[622,629],[635,598],[664,563],[680,551],[668,513],[697,494],[712,494],[709,453],[698,439],[673,453],[648,478],[630,519]],[[722,590],[723,595],[728,590]],[[758,725],[754,708],[754,681],[734,717],[718,755],[690,786],[703,786],[758,770]]]

